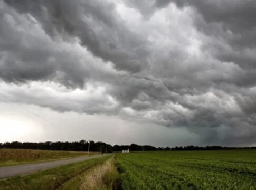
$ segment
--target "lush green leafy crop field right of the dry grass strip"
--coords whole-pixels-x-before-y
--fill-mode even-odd
[[[256,189],[256,151],[117,154],[122,189]]]

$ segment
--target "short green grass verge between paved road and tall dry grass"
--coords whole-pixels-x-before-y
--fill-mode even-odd
[[[85,160],[83,162],[42,170],[29,175],[17,176],[0,180],[2,189],[58,189],[62,184],[81,175],[89,168],[104,163],[111,155]]]

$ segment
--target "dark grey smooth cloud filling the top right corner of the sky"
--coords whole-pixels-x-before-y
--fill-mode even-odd
[[[172,2],[175,2],[178,7],[193,6],[202,14],[207,23],[221,23],[225,29],[230,29],[234,33],[253,29],[255,26],[256,3],[252,0],[181,0]]]

